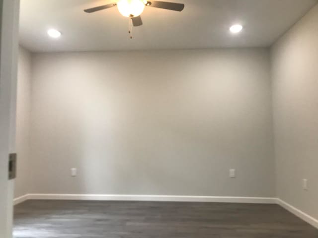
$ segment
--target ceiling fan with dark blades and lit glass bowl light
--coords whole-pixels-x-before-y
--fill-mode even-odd
[[[140,15],[141,13],[143,13],[145,6],[163,8],[163,9],[173,10],[173,11],[182,11],[184,8],[184,4],[182,3],[174,3],[174,2],[166,2],[166,1],[118,0],[115,3],[110,3],[106,5],[101,5],[101,6],[85,9],[84,12],[92,13],[95,11],[104,10],[114,6],[117,6],[119,12],[123,16],[130,17],[132,19],[133,26],[141,26],[143,24],[143,21]]]

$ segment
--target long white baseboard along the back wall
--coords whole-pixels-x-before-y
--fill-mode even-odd
[[[272,197],[220,197],[171,195],[108,195],[108,194],[28,194],[29,199],[99,200],[99,201],[170,201],[170,202],[226,202],[275,204]]]

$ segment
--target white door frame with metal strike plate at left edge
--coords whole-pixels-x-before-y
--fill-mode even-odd
[[[14,182],[8,154],[15,151],[19,0],[0,0],[0,238],[12,238]]]

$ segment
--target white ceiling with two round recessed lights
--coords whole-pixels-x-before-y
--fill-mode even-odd
[[[21,0],[20,44],[32,52],[267,47],[317,0],[166,0],[185,3],[182,12],[146,7],[144,25],[128,37],[128,18],[116,7],[83,9],[116,0]],[[240,23],[239,35],[229,27]],[[47,29],[62,32],[59,39]]]

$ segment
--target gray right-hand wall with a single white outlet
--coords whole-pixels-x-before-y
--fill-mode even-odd
[[[318,218],[318,5],[272,48],[277,194]],[[302,180],[309,179],[309,190]]]

